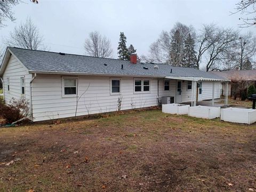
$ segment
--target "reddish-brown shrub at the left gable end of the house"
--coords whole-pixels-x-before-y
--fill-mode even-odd
[[[6,119],[7,123],[13,123],[29,115],[28,101],[25,98],[12,98],[9,104],[0,102],[0,116]]]

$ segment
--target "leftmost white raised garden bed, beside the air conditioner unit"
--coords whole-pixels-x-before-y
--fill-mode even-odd
[[[162,105],[162,112],[169,114],[186,115],[188,114],[188,107],[189,105],[182,105],[176,103],[165,104]]]

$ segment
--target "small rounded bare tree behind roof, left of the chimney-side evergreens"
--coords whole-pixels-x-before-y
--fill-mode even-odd
[[[113,57],[110,40],[105,36],[102,37],[98,31],[91,32],[89,38],[85,39],[84,49],[86,54],[93,57]]]

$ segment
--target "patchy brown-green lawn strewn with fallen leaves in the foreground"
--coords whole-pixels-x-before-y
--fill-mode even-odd
[[[159,110],[2,128],[0,191],[256,190],[255,146],[255,124]]]

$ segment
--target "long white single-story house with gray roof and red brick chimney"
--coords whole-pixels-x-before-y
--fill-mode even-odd
[[[7,47],[0,69],[5,102],[25,97],[31,119],[43,121],[106,113],[118,106],[157,106],[164,95],[195,105],[220,98],[221,82],[227,81],[193,68],[137,63],[136,58],[123,61]]]

